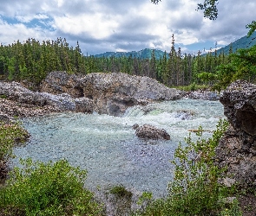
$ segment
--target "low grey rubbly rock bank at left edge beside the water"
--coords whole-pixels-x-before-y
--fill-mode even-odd
[[[67,93],[53,95],[33,92],[17,82],[0,82],[0,119],[29,117],[57,111],[92,112],[89,98],[72,98]]]

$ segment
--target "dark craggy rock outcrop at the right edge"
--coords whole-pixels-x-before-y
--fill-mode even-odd
[[[227,168],[226,184],[256,186],[256,85],[237,80],[220,96],[231,124],[216,149],[217,162]]]

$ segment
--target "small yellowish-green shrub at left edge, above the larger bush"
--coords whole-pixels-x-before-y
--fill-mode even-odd
[[[28,137],[28,132],[20,124],[0,123],[0,162],[12,156],[15,143],[23,143]]]

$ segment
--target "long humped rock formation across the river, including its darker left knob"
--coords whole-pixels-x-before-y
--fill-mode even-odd
[[[84,77],[62,72],[49,73],[42,92],[68,93],[73,98],[88,98],[100,114],[121,116],[128,107],[181,98],[183,92],[167,88],[155,79],[127,73],[89,73]]]

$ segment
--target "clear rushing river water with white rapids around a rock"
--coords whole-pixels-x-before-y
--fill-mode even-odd
[[[123,117],[83,113],[58,113],[25,118],[23,126],[30,142],[16,147],[18,158],[31,157],[43,162],[66,158],[73,166],[88,170],[87,187],[122,184],[133,191],[166,194],[172,179],[174,149],[188,130],[213,131],[223,116],[219,101],[180,99],[135,106]],[[171,136],[170,141],[143,141],[135,137],[133,124],[153,124]],[[204,136],[210,137],[211,132]]]

